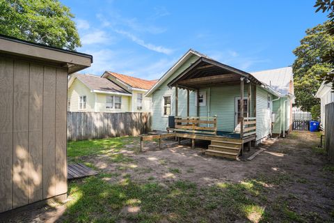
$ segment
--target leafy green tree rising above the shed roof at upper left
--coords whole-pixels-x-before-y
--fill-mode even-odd
[[[0,33],[74,50],[80,38],[70,8],[58,0],[0,0]]]

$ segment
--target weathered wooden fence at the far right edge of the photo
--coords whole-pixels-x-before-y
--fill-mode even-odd
[[[334,102],[325,107],[325,149],[334,162]]]

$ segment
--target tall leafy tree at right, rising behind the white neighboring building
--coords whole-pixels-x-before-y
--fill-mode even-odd
[[[293,51],[296,55],[292,66],[296,106],[305,112],[310,112],[314,105],[319,104],[315,93],[324,76],[334,68],[332,63],[321,59],[328,51],[334,50],[334,36],[327,32],[327,25],[328,22],[325,22],[307,29],[301,45]]]

